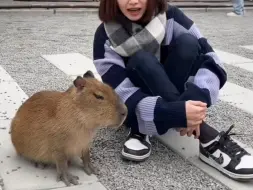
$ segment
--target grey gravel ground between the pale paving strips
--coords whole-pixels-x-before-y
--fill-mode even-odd
[[[222,11],[187,11],[187,14],[215,48],[253,59],[253,51],[240,47],[253,44],[252,11],[245,18],[227,18]],[[0,12],[0,18],[0,65],[28,96],[43,89],[64,90],[71,83],[41,54],[79,52],[92,57],[93,33],[99,24],[95,14]],[[226,67],[230,82],[253,89],[249,81],[252,73],[231,65]],[[237,139],[253,147],[250,114],[221,102],[209,115],[209,122],[218,129],[227,129],[236,122],[235,132],[249,134]],[[154,139],[153,153],[145,163],[122,161],[119,156],[125,135],[123,129],[117,133],[101,131],[92,148],[92,161],[100,168],[98,178],[106,188],[228,189]]]

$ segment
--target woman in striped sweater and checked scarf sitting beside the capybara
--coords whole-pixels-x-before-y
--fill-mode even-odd
[[[234,179],[253,178],[253,157],[204,122],[227,80],[195,23],[167,0],[101,0],[93,59],[127,105],[122,156],[143,161],[152,135],[170,128],[199,140],[200,159]]]

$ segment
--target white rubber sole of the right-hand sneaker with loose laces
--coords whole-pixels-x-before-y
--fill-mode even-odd
[[[226,176],[228,176],[234,180],[238,180],[238,181],[253,180],[253,174],[240,175],[240,174],[235,174],[235,173],[229,172],[226,169],[224,169],[223,167],[221,167],[219,164],[217,164],[215,161],[207,158],[206,156],[204,156],[201,153],[199,153],[199,158],[201,161],[207,163],[208,165],[219,170],[221,173],[225,174]]]

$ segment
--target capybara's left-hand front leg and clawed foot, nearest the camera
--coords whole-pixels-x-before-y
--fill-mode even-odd
[[[78,176],[68,172],[68,160],[64,155],[56,157],[57,181],[63,181],[67,186],[78,185]]]

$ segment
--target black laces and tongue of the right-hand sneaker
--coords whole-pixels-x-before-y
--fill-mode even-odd
[[[248,154],[248,152],[230,138],[231,136],[237,136],[236,133],[230,133],[234,127],[233,124],[226,132],[221,132],[219,143],[226,147],[231,156],[241,157]]]

